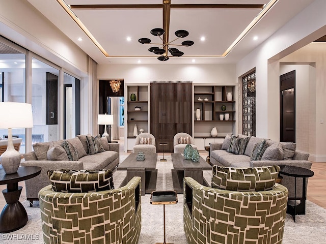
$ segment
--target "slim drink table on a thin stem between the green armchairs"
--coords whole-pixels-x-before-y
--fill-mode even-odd
[[[150,203],[155,205],[163,205],[164,213],[164,242],[156,242],[156,244],[173,244],[167,243],[165,238],[165,205],[166,204],[177,204],[178,195],[175,191],[153,191],[151,193]]]

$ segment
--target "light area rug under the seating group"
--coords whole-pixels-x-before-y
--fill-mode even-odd
[[[157,161],[157,185],[156,190],[172,190],[172,161],[171,156],[166,157],[167,162]],[[115,186],[120,186],[125,171],[114,172]],[[204,171],[204,177],[210,182],[210,171]],[[163,206],[151,205],[149,203],[150,194],[142,196],[142,230],[139,239],[140,244],[152,244],[164,241]],[[34,202],[33,207],[29,207],[27,201],[23,205],[28,212],[29,221],[21,229],[0,234],[0,243],[43,243],[40,209]],[[178,203],[166,205],[166,241],[175,244],[187,244],[183,231],[183,195],[178,194]],[[326,243],[326,209],[307,201],[306,215],[296,216],[294,223],[290,215],[286,216],[284,229],[284,244],[307,244]]]

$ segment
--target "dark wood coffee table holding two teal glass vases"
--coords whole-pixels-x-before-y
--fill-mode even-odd
[[[209,186],[208,182],[203,177],[203,170],[211,170],[206,160],[202,157],[199,158],[199,162],[193,162],[186,160],[183,154],[171,154],[173,169],[172,169],[172,180],[173,188],[177,193],[183,193],[183,177],[192,177],[199,184]]]

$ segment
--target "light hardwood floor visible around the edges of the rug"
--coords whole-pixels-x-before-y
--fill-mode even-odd
[[[129,153],[124,153],[121,146],[120,156],[126,156]],[[166,154],[165,154],[166,155]],[[207,151],[200,151],[200,155],[206,159],[208,156]],[[158,157],[162,157],[162,154],[158,154]],[[308,181],[308,190],[307,190],[307,199],[311,202],[316,203],[317,205],[326,209],[326,162],[325,163],[313,163],[311,170],[314,172],[314,176],[309,178]],[[26,193],[24,190],[24,182],[20,182],[19,186],[23,187],[20,201],[26,199]],[[4,190],[6,185],[0,185],[0,190]],[[6,201],[2,194],[0,194],[0,210],[5,206]]]

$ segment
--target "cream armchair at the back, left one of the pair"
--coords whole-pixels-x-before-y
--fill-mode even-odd
[[[144,153],[156,153],[156,145],[155,145],[155,137],[150,133],[141,133],[136,137],[136,141],[134,142],[134,146],[132,149],[134,154],[138,154],[140,152]]]

